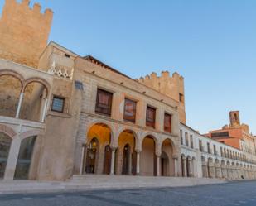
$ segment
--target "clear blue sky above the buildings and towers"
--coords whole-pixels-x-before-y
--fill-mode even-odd
[[[132,78],[162,70],[183,75],[190,127],[220,128],[230,110],[239,110],[256,134],[255,0],[36,2],[55,12],[50,40],[79,55]]]

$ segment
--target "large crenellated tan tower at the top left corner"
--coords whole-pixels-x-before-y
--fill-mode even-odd
[[[37,67],[51,31],[53,12],[29,0],[6,0],[0,19],[0,58]]]

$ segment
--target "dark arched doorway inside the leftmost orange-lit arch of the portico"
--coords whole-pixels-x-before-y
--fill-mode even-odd
[[[95,173],[95,165],[98,157],[98,151],[99,151],[99,141],[96,137],[94,137],[90,141],[89,147],[87,148],[86,165],[85,165],[85,172],[87,174]]]

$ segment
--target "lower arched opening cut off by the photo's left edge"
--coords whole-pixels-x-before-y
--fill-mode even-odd
[[[0,132],[0,179],[4,176],[11,144],[12,138]]]

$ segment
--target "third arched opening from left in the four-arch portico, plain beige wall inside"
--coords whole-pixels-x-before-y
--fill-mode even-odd
[[[156,142],[154,137],[147,136],[142,141],[142,154],[140,160],[141,175],[157,175]]]

